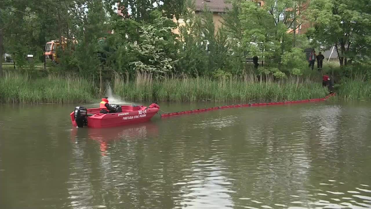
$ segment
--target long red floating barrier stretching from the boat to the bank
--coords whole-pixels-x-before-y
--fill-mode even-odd
[[[306,99],[306,100],[285,101],[285,102],[248,103],[248,104],[240,104],[240,105],[226,105],[226,106],[219,106],[219,107],[209,107],[205,109],[196,109],[196,110],[187,110],[187,111],[182,111],[182,112],[166,113],[166,114],[162,114],[161,117],[171,117],[171,116],[178,116],[178,115],[184,115],[184,114],[190,114],[190,113],[200,113],[200,112],[233,108],[233,107],[255,107],[255,106],[267,106],[267,105],[285,105],[285,104],[296,104],[296,103],[319,102],[319,101],[325,101],[332,96],[335,96],[335,93],[330,93],[329,95],[323,98],[318,98],[318,99]]]

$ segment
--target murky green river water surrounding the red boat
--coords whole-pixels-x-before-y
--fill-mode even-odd
[[[0,106],[1,209],[371,208],[370,102],[79,130],[73,108]]]

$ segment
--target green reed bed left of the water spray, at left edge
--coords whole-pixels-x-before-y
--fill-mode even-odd
[[[83,103],[97,97],[94,81],[73,76],[6,73],[0,78],[1,103]]]

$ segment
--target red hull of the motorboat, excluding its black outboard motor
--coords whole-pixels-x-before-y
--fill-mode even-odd
[[[124,126],[134,123],[142,123],[150,120],[157,112],[158,108],[148,108],[144,106],[121,106],[122,112],[119,113],[99,113],[99,108],[87,109],[89,128],[108,128]],[[74,112],[70,113],[73,126],[77,126]]]

